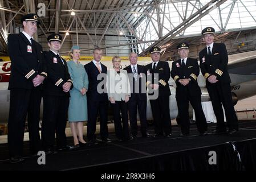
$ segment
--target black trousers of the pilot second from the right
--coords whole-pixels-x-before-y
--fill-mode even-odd
[[[207,122],[204,111],[202,110],[201,95],[189,96],[188,94],[182,94],[182,97],[176,97],[176,100],[178,105],[178,115],[180,115],[181,133],[189,134],[189,101],[196,115],[197,130],[200,133],[205,133],[205,131],[207,131]]]

